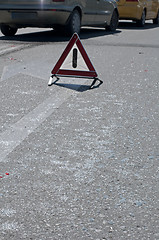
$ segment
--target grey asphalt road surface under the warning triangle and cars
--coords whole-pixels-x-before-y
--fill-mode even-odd
[[[102,85],[51,70],[69,39],[0,35],[0,239],[159,239],[159,27],[83,29]]]

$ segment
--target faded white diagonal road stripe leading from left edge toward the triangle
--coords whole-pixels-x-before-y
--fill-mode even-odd
[[[79,84],[81,84],[81,81]],[[77,85],[78,88],[79,85]],[[0,134],[0,162],[5,162],[7,155],[62,105],[71,94],[72,90],[70,89],[62,89],[56,92],[56,94],[46,99],[33,111],[13,124],[8,130],[2,132]]]

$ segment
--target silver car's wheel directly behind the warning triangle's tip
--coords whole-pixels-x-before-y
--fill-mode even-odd
[[[74,10],[69,18],[68,24],[66,26],[66,34],[72,35],[75,32],[80,33],[81,29],[81,16],[79,11]]]

